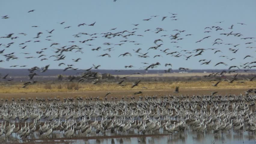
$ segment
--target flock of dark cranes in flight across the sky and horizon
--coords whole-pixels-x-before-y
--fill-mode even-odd
[[[36,13],[36,12],[37,12],[36,10],[29,10],[28,14]],[[177,13],[168,13],[168,15],[169,16],[162,16],[162,19],[160,21],[166,21],[168,18],[170,18],[171,21],[178,21],[178,14]],[[142,21],[150,22],[153,19],[157,20],[158,17],[160,17],[160,16],[155,15],[155,16],[151,16],[148,19],[142,19]],[[2,19],[8,20],[8,19],[11,19],[11,17],[8,16],[8,15],[5,15],[5,16],[2,16]],[[74,27],[74,26],[64,26],[64,25],[66,25],[66,22],[57,22],[57,23],[59,25],[61,25],[63,27],[63,29],[69,29],[71,27]],[[218,25],[221,25],[223,23],[224,23],[224,21],[216,22],[216,24],[218,24]],[[92,22],[91,24],[80,23],[80,24],[77,25],[77,27],[81,28],[83,26],[89,26],[90,29],[93,29],[93,27],[96,24],[97,24],[96,22]],[[70,43],[72,45],[61,46],[62,44],[60,44],[60,43],[51,42],[49,44],[48,48],[36,49],[35,50],[36,55],[32,54],[33,50],[29,50],[29,52],[26,52],[26,49],[29,47],[29,43],[31,43],[31,42],[39,43],[39,45],[40,45],[40,43],[47,43],[47,41],[54,41],[54,34],[57,33],[57,29],[56,30],[55,29],[46,30],[47,35],[45,35],[44,32],[36,32],[35,37],[29,37],[30,38],[29,41],[24,41],[24,42],[21,42],[21,43],[17,44],[18,46],[20,46],[20,49],[18,50],[18,51],[20,51],[19,54],[18,54],[17,51],[14,50],[15,48],[13,48],[13,47],[15,47],[15,44],[16,44],[15,41],[18,40],[21,36],[22,37],[28,37],[28,34],[23,33],[23,32],[17,33],[17,34],[14,34],[14,33],[6,34],[5,36],[0,37],[0,42],[6,42],[6,41],[11,41],[11,42],[10,43],[5,43],[5,44],[4,43],[0,44],[0,54],[1,54],[0,55],[0,62],[1,63],[2,62],[8,63],[9,61],[15,61],[15,60],[20,59],[23,55],[26,55],[24,58],[29,59],[29,61],[31,61],[31,59],[33,59],[33,58],[38,58],[38,59],[40,59],[40,61],[49,61],[48,62],[49,64],[47,64],[44,67],[35,66],[35,67],[29,68],[28,69],[29,70],[29,73],[28,73],[29,79],[33,79],[34,76],[40,75],[40,74],[38,74],[38,72],[41,72],[41,73],[47,72],[47,70],[52,65],[50,61],[60,61],[59,64],[58,64],[58,67],[66,65],[66,67],[63,69],[63,71],[66,71],[66,70],[80,70],[78,68],[75,68],[75,63],[83,62],[84,61],[83,57],[82,58],[72,58],[72,61],[73,61],[72,64],[66,64],[62,61],[66,60],[67,56],[70,56],[70,55],[74,54],[74,53],[72,53],[74,51],[75,51],[75,53],[80,52],[81,55],[83,55],[84,54],[84,48],[82,48],[81,45],[94,47],[94,48],[91,49],[92,52],[90,52],[90,53],[94,53],[96,51],[99,51],[99,54],[96,55],[96,57],[106,57],[104,59],[104,61],[105,60],[107,61],[108,58],[111,58],[111,52],[115,50],[114,47],[118,47],[118,49],[121,49],[121,47],[123,45],[126,45],[126,44],[134,44],[133,47],[142,45],[141,43],[139,43],[137,41],[128,40],[128,39],[133,39],[134,37],[144,37],[143,34],[138,33],[139,29],[141,29],[140,24],[133,24],[133,26],[134,26],[134,28],[131,29],[131,30],[123,30],[123,31],[120,31],[120,32],[117,32],[117,28],[110,29],[108,32],[102,32],[100,34],[99,33],[89,34],[89,33],[86,33],[86,32],[80,32],[80,33],[72,35],[72,37],[74,39],[77,39],[77,41],[75,41],[75,40],[68,41],[68,43]],[[256,63],[256,61],[253,60],[254,59],[253,54],[251,54],[251,55],[242,55],[242,53],[239,53],[239,56],[236,56],[236,57],[229,57],[228,56],[228,55],[232,56],[233,54],[236,54],[240,51],[242,52],[242,51],[244,51],[243,49],[253,49],[253,48],[255,48],[255,47],[252,46],[253,45],[253,40],[255,39],[254,37],[246,37],[246,36],[244,36],[244,34],[242,32],[236,32],[236,30],[235,30],[236,27],[244,27],[244,26],[247,26],[247,25],[244,24],[244,23],[241,23],[241,22],[237,22],[235,25],[232,24],[229,28],[223,28],[221,26],[205,27],[204,28],[205,31],[203,33],[206,33],[206,34],[217,33],[217,34],[220,35],[221,38],[215,38],[215,40],[212,41],[212,44],[209,45],[209,46],[212,46],[214,48],[198,48],[198,49],[193,49],[193,50],[183,49],[181,46],[178,46],[178,44],[180,44],[186,38],[189,38],[189,37],[193,36],[193,34],[184,34],[184,33],[186,33],[186,30],[174,29],[174,30],[172,30],[172,32],[167,32],[167,30],[165,30],[164,28],[157,27],[152,32],[151,29],[146,29],[146,30],[144,30],[145,35],[148,35],[148,32],[151,31],[150,35],[155,35],[156,37],[158,37],[152,43],[154,46],[151,46],[149,48],[133,49],[133,52],[132,51],[128,52],[129,49],[126,49],[127,52],[121,53],[121,54],[117,55],[117,57],[118,58],[133,57],[134,55],[137,55],[139,58],[141,58],[143,60],[147,60],[147,58],[151,57],[149,55],[149,53],[153,53],[153,54],[154,53],[162,53],[160,55],[154,55],[153,58],[163,58],[163,59],[170,58],[170,57],[178,59],[178,58],[183,57],[185,60],[189,60],[189,59],[192,59],[192,58],[194,59],[194,58],[199,58],[200,57],[199,63],[200,63],[200,67],[201,67],[203,65],[209,65],[210,63],[212,63],[212,60],[210,59],[209,56],[208,56],[209,59],[202,59],[201,58],[201,57],[204,56],[203,55],[204,52],[209,51],[209,50],[213,51],[212,54],[211,54],[211,57],[213,58],[213,57],[215,57],[215,55],[217,55],[219,53],[222,53],[222,51],[224,51],[224,50],[222,50],[224,48],[221,48],[221,47],[229,46],[230,47],[228,49],[229,53],[227,53],[226,55],[220,55],[220,56],[217,57],[218,60],[219,59],[224,60],[224,58],[225,58],[226,61],[220,61],[220,62],[216,62],[216,64],[214,64],[214,67],[216,67],[216,68],[218,67],[218,65],[225,65],[225,66],[227,66],[228,70],[227,71],[223,70],[221,73],[212,73],[212,74],[210,74],[209,76],[206,76],[206,77],[222,76],[225,73],[235,73],[237,70],[243,70],[244,72],[247,72],[250,69],[256,67],[256,65],[253,65],[253,64]],[[36,31],[37,28],[39,28],[39,26],[31,26],[31,27],[33,29],[35,29],[35,31]],[[167,33],[171,33],[171,34],[167,34]],[[84,40],[85,36],[87,36],[89,38]],[[45,38],[44,40],[42,39],[43,37]],[[91,41],[96,41],[97,39],[100,39],[100,38],[103,38],[106,41],[108,41],[109,39],[115,39],[117,37],[123,38],[124,40],[122,40],[120,42],[115,42],[114,44],[110,43],[110,42],[104,42],[101,46],[94,46],[94,45],[90,44]],[[195,43],[200,43],[202,41],[207,41],[207,39],[210,39],[211,37],[212,36],[208,35],[208,36],[203,37],[202,39],[200,39],[198,41],[195,41]],[[232,39],[234,39],[235,42],[241,41],[241,43],[245,43],[245,45],[247,45],[247,47],[245,47],[245,48],[244,47],[239,47],[240,44],[225,43],[225,38],[228,38],[228,37],[233,37]],[[177,49],[176,51],[172,51],[173,50],[172,48],[164,48],[164,46],[165,46],[164,41],[166,41],[166,38],[169,39],[168,47],[170,47],[171,44],[176,44],[176,46],[174,46],[174,48],[173,48],[173,49]],[[99,44],[99,43],[97,43],[97,44]],[[112,46],[112,47],[103,49],[102,48],[103,46]],[[6,52],[7,49],[8,49],[8,51],[12,51],[12,49],[13,49],[13,52],[7,53]],[[46,55],[46,53],[50,53],[51,51],[53,51],[53,55],[51,55],[51,56]],[[142,52],[142,51],[146,51],[146,52]],[[71,54],[68,55],[68,53],[71,53]],[[88,53],[88,50],[86,50],[86,53]],[[77,55],[77,54],[75,54],[75,55]],[[113,55],[112,55],[112,57],[113,57]],[[240,59],[248,60],[248,61],[246,63],[240,64],[240,65],[228,65],[228,61],[233,61],[233,60],[236,60],[236,59],[239,59],[239,62],[240,62]],[[136,61],[136,63],[138,64],[139,62]],[[155,63],[152,63],[152,64],[148,64],[147,62],[141,62],[141,63],[145,64],[145,66],[140,67],[140,68],[143,68],[145,70],[154,69],[154,68],[161,65],[161,63],[157,62],[157,61]],[[170,67],[167,70],[164,70],[165,73],[172,72],[171,67],[174,65],[174,63],[167,62],[164,65],[165,65],[165,67]],[[27,66],[26,65],[19,65],[18,61],[17,61],[17,65],[11,65],[10,67],[27,67]],[[101,67],[101,65],[92,64],[92,67],[90,67],[88,69],[85,69],[84,72],[90,71],[92,69],[99,69],[100,67]],[[134,65],[125,65],[124,66],[125,69],[129,69],[129,68],[133,68],[133,67],[135,67],[135,66]],[[52,68],[56,68],[56,67],[52,67]],[[187,68],[187,67],[179,67],[178,70],[188,71],[190,69]],[[117,70],[117,71],[120,71],[120,70]],[[133,74],[142,74],[142,73],[133,73]],[[78,82],[89,81],[93,78],[96,78],[96,75],[97,75],[97,73],[94,73],[94,74],[85,73],[83,75],[79,75],[78,77],[80,79],[78,80]],[[13,78],[8,79],[7,76],[8,76],[8,73],[3,74],[2,79],[6,80],[6,81],[13,80]],[[125,86],[125,85],[122,84],[122,82],[123,82],[123,80],[125,80],[127,78],[128,78],[128,76],[120,78],[121,81],[118,82],[118,85]],[[236,75],[231,80],[223,79],[223,81],[227,81],[227,82],[230,82],[230,83],[232,83],[234,81],[237,81],[239,83],[244,83],[244,81],[241,81],[243,79],[245,79],[245,78],[239,78]],[[254,77],[252,77],[248,81],[251,81],[253,79],[254,79]],[[68,81],[73,81],[73,80],[74,79],[68,79]],[[214,81],[214,80],[216,80],[216,79],[213,79],[211,81]],[[100,83],[102,81],[107,81],[107,80],[93,81],[93,84],[97,84],[97,83]],[[138,86],[138,83],[140,81],[141,80],[139,80],[135,83],[132,83],[131,88],[133,88],[135,86]],[[35,82],[36,81],[25,82],[22,87],[27,88],[28,85],[34,84]],[[221,81],[218,81],[217,83],[213,84],[212,86],[217,86],[219,82],[221,82]],[[140,92],[139,92],[139,94],[140,94]]]

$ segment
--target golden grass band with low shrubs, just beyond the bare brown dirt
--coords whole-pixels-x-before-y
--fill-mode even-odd
[[[166,90],[179,86],[182,89],[234,89],[234,88],[255,88],[256,81],[246,81],[245,83],[220,82],[217,87],[213,87],[215,82],[190,81],[190,82],[140,82],[139,86],[131,88],[130,82],[123,82],[126,86],[119,86],[115,82],[103,82],[93,85],[91,83],[77,82],[38,82],[34,85],[28,85],[27,88],[21,88],[22,84],[14,83],[5,86],[6,83],[0,83],[0,93],[30,93],[30,92],[66,92],[66,91],[111,91],[111,90],[143,90],[146,87],[149,90]],[[50,85],[50,86],[47,86]]]

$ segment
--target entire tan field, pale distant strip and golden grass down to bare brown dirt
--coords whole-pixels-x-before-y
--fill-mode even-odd
[[[209,82],[210,79],[221,79],[220,77],[207,77],[204,75],[210,73],[161,73],[161,74],[148,74],[131,75],[130,80],[125,80],[122,84],[125,86],[117,85],[115,81],[102,82],[92,84],[91,82],[65,82],[65,81],[49,81],[37,82],[33,85],[28,85],[22,88],[23,82],[0,82],[0,98],[67,98],[67,97],[97,97],[104,98],[107,92],[111,92],[111,96],[122,98],[123,96],[132,96],[135,92],[142,91],[142,96],[153,95],[176,95],[173,93],[176,86],[180,87],[182,95],[196,95],[196,94],[210,94],[213,91],[218,91],[218,94],[240,94],[244,91],[256,88],[256,81],[244,81],[245,83],[229,83],[222,81],[217,87],[212,86],[216,81]],[[234,74],[226,74],[228,78]],[[118,75],[119,77],[126,75]],[[241,77],[252,77],[252,73],[239,73]],[[132,82],[142,79],[139,86],[131,88]],[[154,80],[153,80],[154,79]],[[223,79],[223,78],[222,78]],[[230,78],[229,78],[230,79]],[[120,80],[119,80],[120,81]],[[138,95],[139,97],[139,95]]]

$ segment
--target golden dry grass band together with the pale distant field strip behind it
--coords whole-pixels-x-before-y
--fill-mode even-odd
[[[220,77],[203,78],[204,75],[210,73],[161,73],[161,74],[148,74],[148,75],[130,75],[130,79],[125,80],[122,84],[125,86],[117,85],[117,82],[108,81],[97,84],[92,82],[65,82],[65,81],[49,81],[49,82],[37,82],[33,85],[28,85],[26,88],[22,88],[23,82],[0,82],[0,94],[1,93],[38,93],[38,92],[71,92],[71,91],[124,91],[124,90],[174,90],[176,86],[180,89],[250,89],[255,88],[256,81],[244,81],[244,83],[238,83],[234,81],[229,83],[227,81],[221,81],[217,87],[213,87],[212,84],[217,81],[209,82],[210,79],[221,79]],[[227,78],[234,74],[225,74]],[[118,75],[119,77],[128,75]],[[252,77],[253,73],[239,73],[239,76]],[[139,86],[131,88],[132,82],[136,82],[139,79],[142,81]],[[222,78],[223,80],[223,78]],[[119,80],[120,81],[120,80]]]

